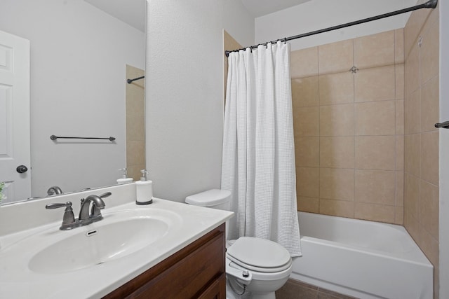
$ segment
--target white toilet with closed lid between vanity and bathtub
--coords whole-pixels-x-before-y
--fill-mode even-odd
[[[229,210],[231,196],[229,190],[213,189],[187,196],[185,202]],[[276,298],[274,292],[286,283],[292,272],[287,249],[255,237],[227,241],[226,248],[226,298]]]

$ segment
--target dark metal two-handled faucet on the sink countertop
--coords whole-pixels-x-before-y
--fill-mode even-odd
[[[79,211],[79,217],[75,219],[72,209],[72,202],[66,202],[65,204],[47,204],[46,209],[57,209],[60,207],[65,207],[64,216],[62,218],[62,225],[60,230],[71,230],[72,228],[77,228],[79,226],[88,225],[95,221],[102,220],[103,216],[100,209],[105,209],[105,202],[102,200],[105,197],[112,195],[112,193],[107,192],[102,195],[89,195],[86,199],[81,198],[81,209]],[[92,209],[89,212],[89,207]]]

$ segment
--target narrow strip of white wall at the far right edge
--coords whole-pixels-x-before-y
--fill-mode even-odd
[[[440,121],[449,120],[449,3],[440,6]],[[440,298],[449,298],[449,130],[440,129]]]

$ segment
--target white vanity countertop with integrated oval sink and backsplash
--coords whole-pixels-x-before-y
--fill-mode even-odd
[[[102,221],[72,230],[59,229],[63,211],[44,207],[76,202],[78,193],[1,207],[0,231],[10,224],[27,225],[0,235],[0,298],[102,298],[232,216],[159,198],[138,206],[128,196],[134,184],[98,190],[104,192],[112,196]],[[53,221],[41,221],[53,212]]]

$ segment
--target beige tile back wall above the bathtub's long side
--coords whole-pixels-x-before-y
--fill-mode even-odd
[[[403,223],[403,45],[398,29],[291,53],[301,211]]]

